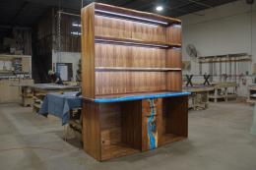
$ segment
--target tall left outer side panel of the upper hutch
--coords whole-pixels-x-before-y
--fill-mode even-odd
[[[95,5],[82,10],[82,93],[95,98]]]

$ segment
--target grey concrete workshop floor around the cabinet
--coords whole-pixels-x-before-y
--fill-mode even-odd
[[[189,138],[137,155],[97,162],[76,142],[62,140],[63,127],[18,104],[0,105],[0,169],[4,170],[255,170],[256,137],[249,134],[252,107],[211,104],[189,113]]]

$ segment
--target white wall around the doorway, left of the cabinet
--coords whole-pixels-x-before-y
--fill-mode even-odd
[[[60,56],[61,56],[60,63],[72,63],[73,79],[76,80],[78,63],[79,63],[79,60],[81,59],[81,53],[80,52],[61,52]],[[58,60],[58,53],[55,51],[52,51],[52,66],[54,66],[57,63],[57,60]]]

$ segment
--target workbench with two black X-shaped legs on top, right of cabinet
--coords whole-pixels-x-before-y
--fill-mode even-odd
[[[213,86],[209,85],[193,85],[183,86],[183,91],[191,92],[188,103],[189,108],[193,110],[207,109],[209,105],[209,92],[214,90]]]

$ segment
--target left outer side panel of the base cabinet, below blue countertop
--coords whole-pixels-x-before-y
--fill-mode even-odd
[[[100,129],[98,105],[92,101],[83,101],[83,142],[84,150],[100,160]]]

